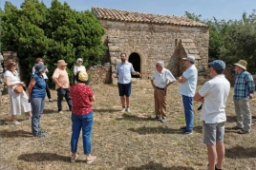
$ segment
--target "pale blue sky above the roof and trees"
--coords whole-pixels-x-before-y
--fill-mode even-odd
[[[4,9],[6,1],[1,1]],[[51,7],[52,0],[39,0]],[[184,16],[185,11],[202,15],[202,19],[240,20],[243,12],[251,14],[256,9],[256,0],[58,0],[66,1],[71,9],[91,10],[92,7],[121,9],[145,13]],[[9,0],[12,5],[20,7],[24,0]]]

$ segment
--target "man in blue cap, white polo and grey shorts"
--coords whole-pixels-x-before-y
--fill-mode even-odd
[[[224,108],[230,84],[224,77],[225,64],[222,60],[215,60],[208,66],[212,79],[201,87],[194,101],[203,103],[200,119],[203,121],[203,143],[207,146],[208,170],[220,170],[224,161]]]

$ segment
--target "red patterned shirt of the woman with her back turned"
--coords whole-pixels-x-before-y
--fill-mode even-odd
[[[70,88],[72,99],[72,113],[75,115],[86,115],[93,111],[90,98],[94,96],[92,88],[84,84],[72,85]]]

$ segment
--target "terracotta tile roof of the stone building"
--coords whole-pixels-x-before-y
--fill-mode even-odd
[[[122,22],[139,22],[154,24],[169,24],[188,27],[208,27],[203,23],[193,21],[186,17],[160,15],[152,13],[142,13],[136,11],[125,11],[117,9],[92,8],[98,19],[122,21]]]

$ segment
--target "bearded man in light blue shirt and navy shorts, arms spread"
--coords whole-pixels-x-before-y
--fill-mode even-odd
[[[117,65],[117,71],[116,74],[112,75],[112,78],[118,78],[118,90],[119,90],[119,96],[120,101],[122,104],[121,112],[124,112],[125,110],[128,112],[131,112],[130,110],[130,95],[132,90],[132,76],[133,75],[139,75],[139,72],[134,70],[134,67],[131,63],[127,62],[127,56],[125,53],[121,53],[121,63]],[[125,102],[126,102],[126,108],[125,108]]]

